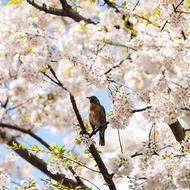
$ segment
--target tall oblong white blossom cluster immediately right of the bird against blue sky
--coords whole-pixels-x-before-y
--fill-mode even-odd
[[[124,129],[128,126],[132,111],[133,102],[126,92],[125,87],[121,87],[119,92],[113,92],[113,115],[109,117],[109,123],[112,128]]]

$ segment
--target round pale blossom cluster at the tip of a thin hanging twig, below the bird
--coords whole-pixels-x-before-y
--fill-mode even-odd
[[[129,176],[133,168],[130,156],[126,158],[124,155],[117,155],[110,162],[110,169],[117,176]]]

